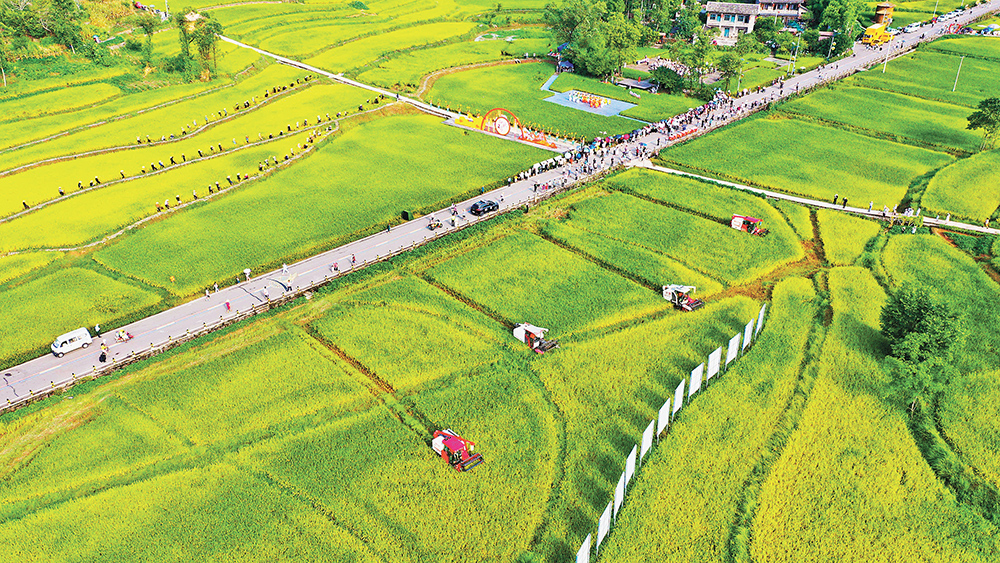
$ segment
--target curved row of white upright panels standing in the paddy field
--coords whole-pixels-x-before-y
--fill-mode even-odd
[[[687,394],[687,400],[690,401],[695,393],[701,390],[703,382],[707,382],[709,379],[720,375],[721,370],[728,369],[729,364],[733,363],[740,354],[746,353],[747,349],[750,348],[750,344],[757,339],[760,329],[764,326],[764,314],[766,311],[767,303],[764,303],[760,308],[760,313],[757,315],[756,325],[754,322],[755,319],[750,319],[750,322],[747,323],[741,332],[737,332],[729,339],[724,365],[722,360],[723,347],[719,346],[714,352],[708,355],[707,371],[705,364],[700,364],[691,370],[690,379],[682,379],[680,384],[677,385],[677,389],[674,391],[673,404],[667,398],[663,406],[660,407],[657,417],[649,422],[649,426],[642,433],[642,443],[633,446],[632,451],[625,458],[625,470],[622,472],[621,477],[618,479],[618,485],[615,487],[614,500],[608,503],[608,507],[604,509],[604,513],[601,514],[601,518],[597,522],[597,543],[593,546],[595,557],[601,548],[601,543],[611,532],[611,526],[618,518],[618,511],[621,510],[622,503],[625,501],[625,492],[632,481],[632,476],[635,475],[636,465],[642,463],[646,454],[653,447],[653,438],[655,437],[658,442],[663,433],[667,431],[670,418],[676,417],[681,407],[684,406],[685,393]],[[741,339],[743,341],[742,346],[740,345]],[[583,545],[577,551],[577,563],[590,563],[591,536],[592,534],[587,534],[586,539],[583,540]]]

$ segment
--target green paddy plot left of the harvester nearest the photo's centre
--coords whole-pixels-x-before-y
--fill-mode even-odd
[[[397,390],[489,363],[508,341],[506,327],[414,277],[353,293],[312,326]]]

